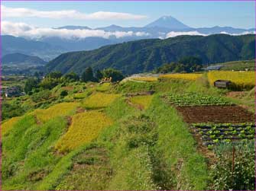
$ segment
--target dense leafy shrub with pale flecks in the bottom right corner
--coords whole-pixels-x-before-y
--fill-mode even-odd
[[[218,154],[218,161],[210,170],[212,177],[210,189],[215,190],[254,190],[255,189],[255,152],[248,145],[235,148],[235,163],[232,172],[232,150]]]

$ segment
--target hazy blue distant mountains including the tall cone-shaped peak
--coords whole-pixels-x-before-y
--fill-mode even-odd
[[[97,49],[101,46],[123,43],[142,39],[166,39],[178,35],[209,35],[215,33],[245,34],[254,33],[254,29],[239,29],[233,27],[201,27],[193,28],[178,21],[176,18],[164,16],[144,27],[120,27],[110,25],[92,29],[86,26],[64,26],[55,30],[81,30],[90,33],[113,33],[109,37],[40,37],[29,39],[28,37],[2,36],[2,56],[10,53],[22,53],[29,56],[39,56],[49,61],[61,53]],[[122,36],[122,33],[126,35]],[[120,37],[118,36],[120,35]]]

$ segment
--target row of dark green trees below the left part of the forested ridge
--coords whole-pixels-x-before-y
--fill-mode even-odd
[[[107,68],[102,71],[97,70],[94,73],[91,67],[86,68],[81,76],[77,75],[75,72],[70,72],[66,75],[63,75],[61,72],[50,72],[43,80],[40,80],[38,75],[35,75],[34,78],[29,78],[25,82],[24,91],[26,94],[31,94],[35,89],[52,89],[58,84],[65,82],[101,81],[102,78],[110,77],[112,78],[112,81],[121,81],[124,78],[124,75],[122,75],[122,72],[113,68]]]

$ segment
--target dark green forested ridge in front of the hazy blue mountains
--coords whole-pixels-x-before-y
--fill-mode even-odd
[[[160,65],[175,62],[184,56],[199,56],[203,64],[254,59],[254,44],[253,34],[136,40],[91,51],[64,53],[50,61],[47,70],[81,74],[86,67],[92,66],[94,69],[117,68],[124,74],[131,75],[151,72]]]

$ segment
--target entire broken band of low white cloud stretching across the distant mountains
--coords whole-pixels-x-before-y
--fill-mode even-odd
[[[151,33],[151,31],[147,31],[145,28],[141,27],[141,31],[139,28],[136,30],[127,30],[122,27],[118,30],[104,30],[104,27],[101,29],[90,29],[90,28],[79,28],[79,29],[69,29],[65,27],[61,28],[50,28],[50,27],[34,27],[25,23],[14,23],[10,21],[2,21],[1,23],[2,35],[11,35],[15,37],[24,37],[31,40],[40,40],[46,37],[59,37],[61,39],[66,40],[82,40],[87,37],[102,37],[105,39],[115,38],[121,39],[125,37],[138,37],[138,38],[160,38],[166,39],[170,37],[177,37],[180,35],[200,35],[206,36],[211,33],[202,33],[195,29],[191,29],[190,31],[170,31],[170,32],[158,32],[158,36],[156,33]],[[253,31],[243,31],[241,33],[228,33],[226,31],[220,31],[219,33],[225,33],[230,35],[242,35],[248,33],[254,33]]]

